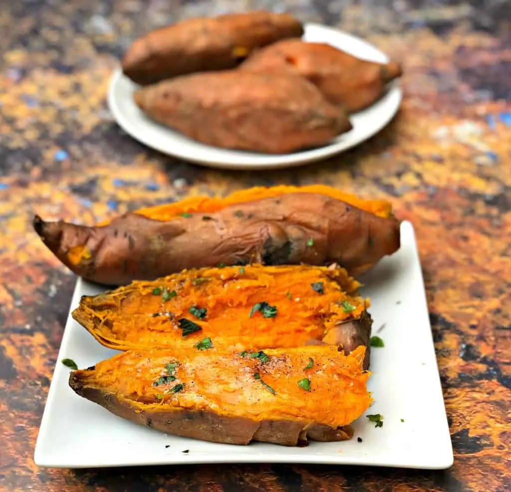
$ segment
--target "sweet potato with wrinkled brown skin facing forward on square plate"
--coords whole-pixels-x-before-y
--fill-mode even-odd
[[[388,204],[325,187],[274,192],[256,189],[252,201],[251,190],[236,199],[189,200],[96,227],[36,216],[34,228],[75,274],[108,285],[219,263],[338,263],[356,276],[399,249],[400,225]]]

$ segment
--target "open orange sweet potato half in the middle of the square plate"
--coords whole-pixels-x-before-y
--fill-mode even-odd
[[[365,346],[367,368],[371,319],[358,286],[335,265],[203,268],[82,297],[73,317],[117,350],[194,350],[204,339],[237,351],[322,341],[346,353]]]

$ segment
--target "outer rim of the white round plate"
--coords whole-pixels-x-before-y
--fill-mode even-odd
[[[371,50],[378,52],[379,56],[382,59],[389,60],[388,56],[382,52],[377,46],[370,43],[369,41],[355,36],[349,32],[326,26],[320,23],[307,22],[304,23],[305,32],[309,30],[316,30],[319,32],[327,33],[329,36],[343,36],[345,38],[350,38],[353,42],[363,43]],[[362,142],[374,137],[378,134],[383,128],[385,128],[389,122],[396,116],[398,113],[401,103],[403,100],[403,91],[399,84],[399,79],[394,80],[392,83],[388,85],[388,90],[386,94],[369,108],[373,107],[377,104],[382,104],[385,99],[388,99],[392,104],[389,106],[389,109],[384,116],[380,118],[378,125],[376,125],[373,129],[371,129],[367,133],[362,133],[358,137],[354,138],[352,141],[339,141],[328,143],[321,147],[316,147],[314,149],[299,151],[295,153],[289,154],[257,154],[250,153],[238,150],[229,150],[229,149],[221,149],[221,147],[214,147],[211,145],[205,145],[201,142],[195,142],[192,139],[188,139],[183,135],[179,135],[180,138],[186,138],[187,140],[191,140],[193,144],[200,145],[204,147],[204,150],[207,148],[211,148],[215,151],[221,151],[225,154],[230,154],[231,157],[229,159],[222,159],[221,157],[209,157],[206,158],[202,155],[205,153],[195,154],[193,151],[185,151],[185,152],[173,152],[172,149],[169,149],[169,146],[166,144],[160,144],[153,136],[150,137],[151,130],[148,130],[148,133],[139,134],[135,124],[130,120],[130,118],[125,117],[123,110],[117,104],[117,88],[118,84],[126,78],[122,72],[122,68],[117,66],[110,77],[108,92],[107,92],[107,104],[108,108],[119,127],[127,133],[131,138],[137,140],[138,142],[144,144],[145,146],[153,149],[157,152],[160,152],[164,155],[174,157],[176,159],[181,159],[183,161],[192,162],[194,164],[203,165],[206,167],[213,167],[219,169],[230,169],[230,170],[239,170],[239,171],[248,171],[248,170],[265,170],[265,169],[281,169],[281,168],[289,168],[296,167],[300,165],[306,165],[313,162],[317,162],[319,160],[324,160],[331,158],[335,155],[341,154],[347,150],[353,149],[353,147],[358,146]],[[129,80],[129,79],[128,79]],[[131,83],[131,81],[130,81]],[[367,108],[367,109],[369,109]],[[171,129],[166,129],[170,132],[173,132]],[[177,132],[175,132],[177,133]],[[350,132],[347,132],[344,135],[349,135]],[[148,136],[149,135],[149,136]],[[342,135],[341,135],[342,136]],[[244,156],[244,157],[243,157]],[[246,159],[246,160],[243,160]]]

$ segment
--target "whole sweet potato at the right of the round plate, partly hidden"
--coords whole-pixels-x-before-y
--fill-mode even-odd
[[[315,84],[334,104],[360,111],[383,95],[385,86],[402,75],[399,63],[361,60],[325,43],[286,39],[252,54],[241,70],[292,73]]]

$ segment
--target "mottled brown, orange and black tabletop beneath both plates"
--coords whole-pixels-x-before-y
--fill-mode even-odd
[[[328,162],[292,171],[234,173],[148,150],[112,121],[105,104],[108,78],[133,37],[186,16],[271,6],[339,26],[404,61],[402,109],[381,134]],[[511,487],[508,462],[506,469],[511,446],[510,11],[498,0],[4,2],[0,490],[489,492]],[[93,223],[188,194],[274,183],[325,183],[387,198],[401,218],[413,222],[453,468],[37,468],[35,440],[75,278],[36,237],[32,214]]]

